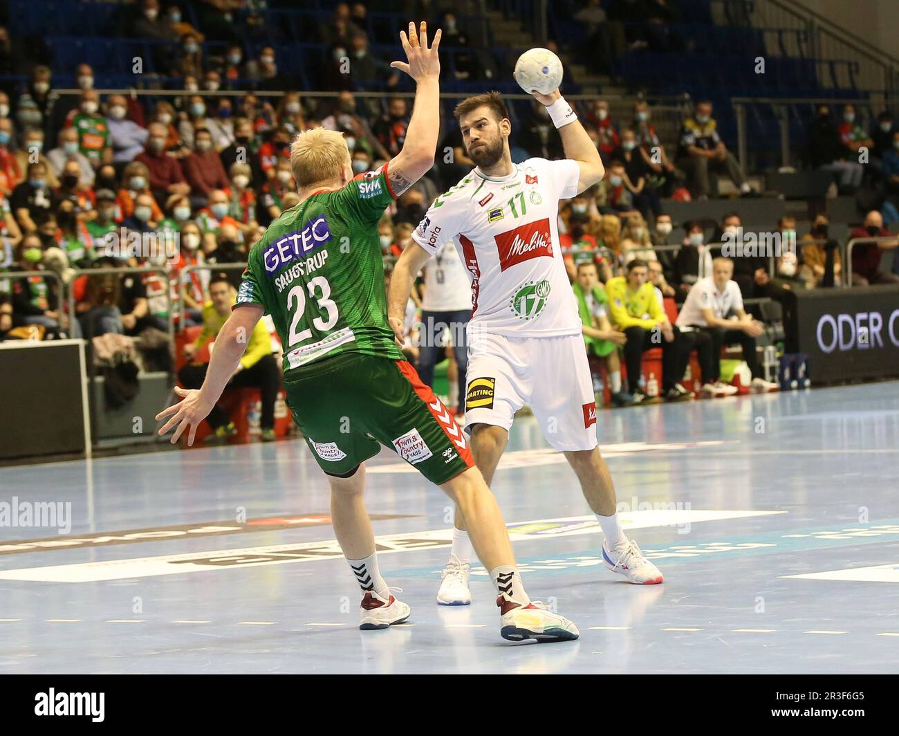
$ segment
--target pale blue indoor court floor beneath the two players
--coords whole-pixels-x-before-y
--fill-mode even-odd
[[[665,582],[601,567],[522,417],[494,492],[531,597],[581,629],[543,646],[499,637],[483,570],[473,606],[435,605],[449,504],[386,450],[369,512],[413,614],[381,632],[357,628],[301,441],[0,469],[0,672],[899,672],[899,382],[605,411],[598,433]],[[35,502],[56,526],[9,525]]]

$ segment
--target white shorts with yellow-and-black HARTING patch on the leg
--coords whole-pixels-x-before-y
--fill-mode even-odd
[[[592,450],[596,397],[580,335],[504,337],[479,333],[468,344],[466,431],[489,424],[509,429],[530,404],[556,450]]]

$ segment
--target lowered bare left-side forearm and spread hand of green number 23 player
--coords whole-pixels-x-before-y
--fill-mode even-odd
[[[177,426],[178,428],[172,435],[172,444],[175,444],[178,438],[184,434],[184,430],[190,427],[187,444],[193,444],[197,427],[212,411],[218,397],[225,390],[227,382],[237,371],[240,358],[244,355],[250,336],[253,334],[253,328],[262,318],[262,305],[247,304],[231,312],[231,316],[216,337],[216,347],[212,351],[212,360],[209,361],[209,369],[202,387],[188,390],[175,386],[174,392],[184,400],[163,409],[156,415],[157,420],[170,417],[159,429],[159,435],[165,435],[172,427]]]

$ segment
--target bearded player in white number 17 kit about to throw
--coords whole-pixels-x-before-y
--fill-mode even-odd
[[[478,94],[459,103],[454,114],[477,166],[434,200],[413,234],[414,243],[399,256],[388,295],[390,324],[398,333],[414,275],[452,240],[472,292],[465,419],[477,467],[489,484],[512,417],[530,404],[547,443],[571,463],[602,527],[606,567],[632,583],[661,583],[662,573],[621,528],[615,489],[596,439],[582,324],[559,246],[559,200],[596,184],[605,171],[558,90],[534,96],[547,106],[566,158],[513,164],[512,123],[502,96]],[[446,606],[471,602],[472,549],[463,526],[457,511],[437,596]]]

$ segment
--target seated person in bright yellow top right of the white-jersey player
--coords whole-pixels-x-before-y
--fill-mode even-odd
[[[645,351],[662,348],[662,390],[669,401],[692,399],[693,394],[681,386],[683,363],[681,331],[672,326],[655,298],[655,289],[647,281],[649,269],[644,260],[635,258],[626,266],[627,275],[616,276],[606,283],[612,322],[624,331],[624,364],[628,370],[628,387],[636,402],[646,399],[637,385],[640,360]]]

